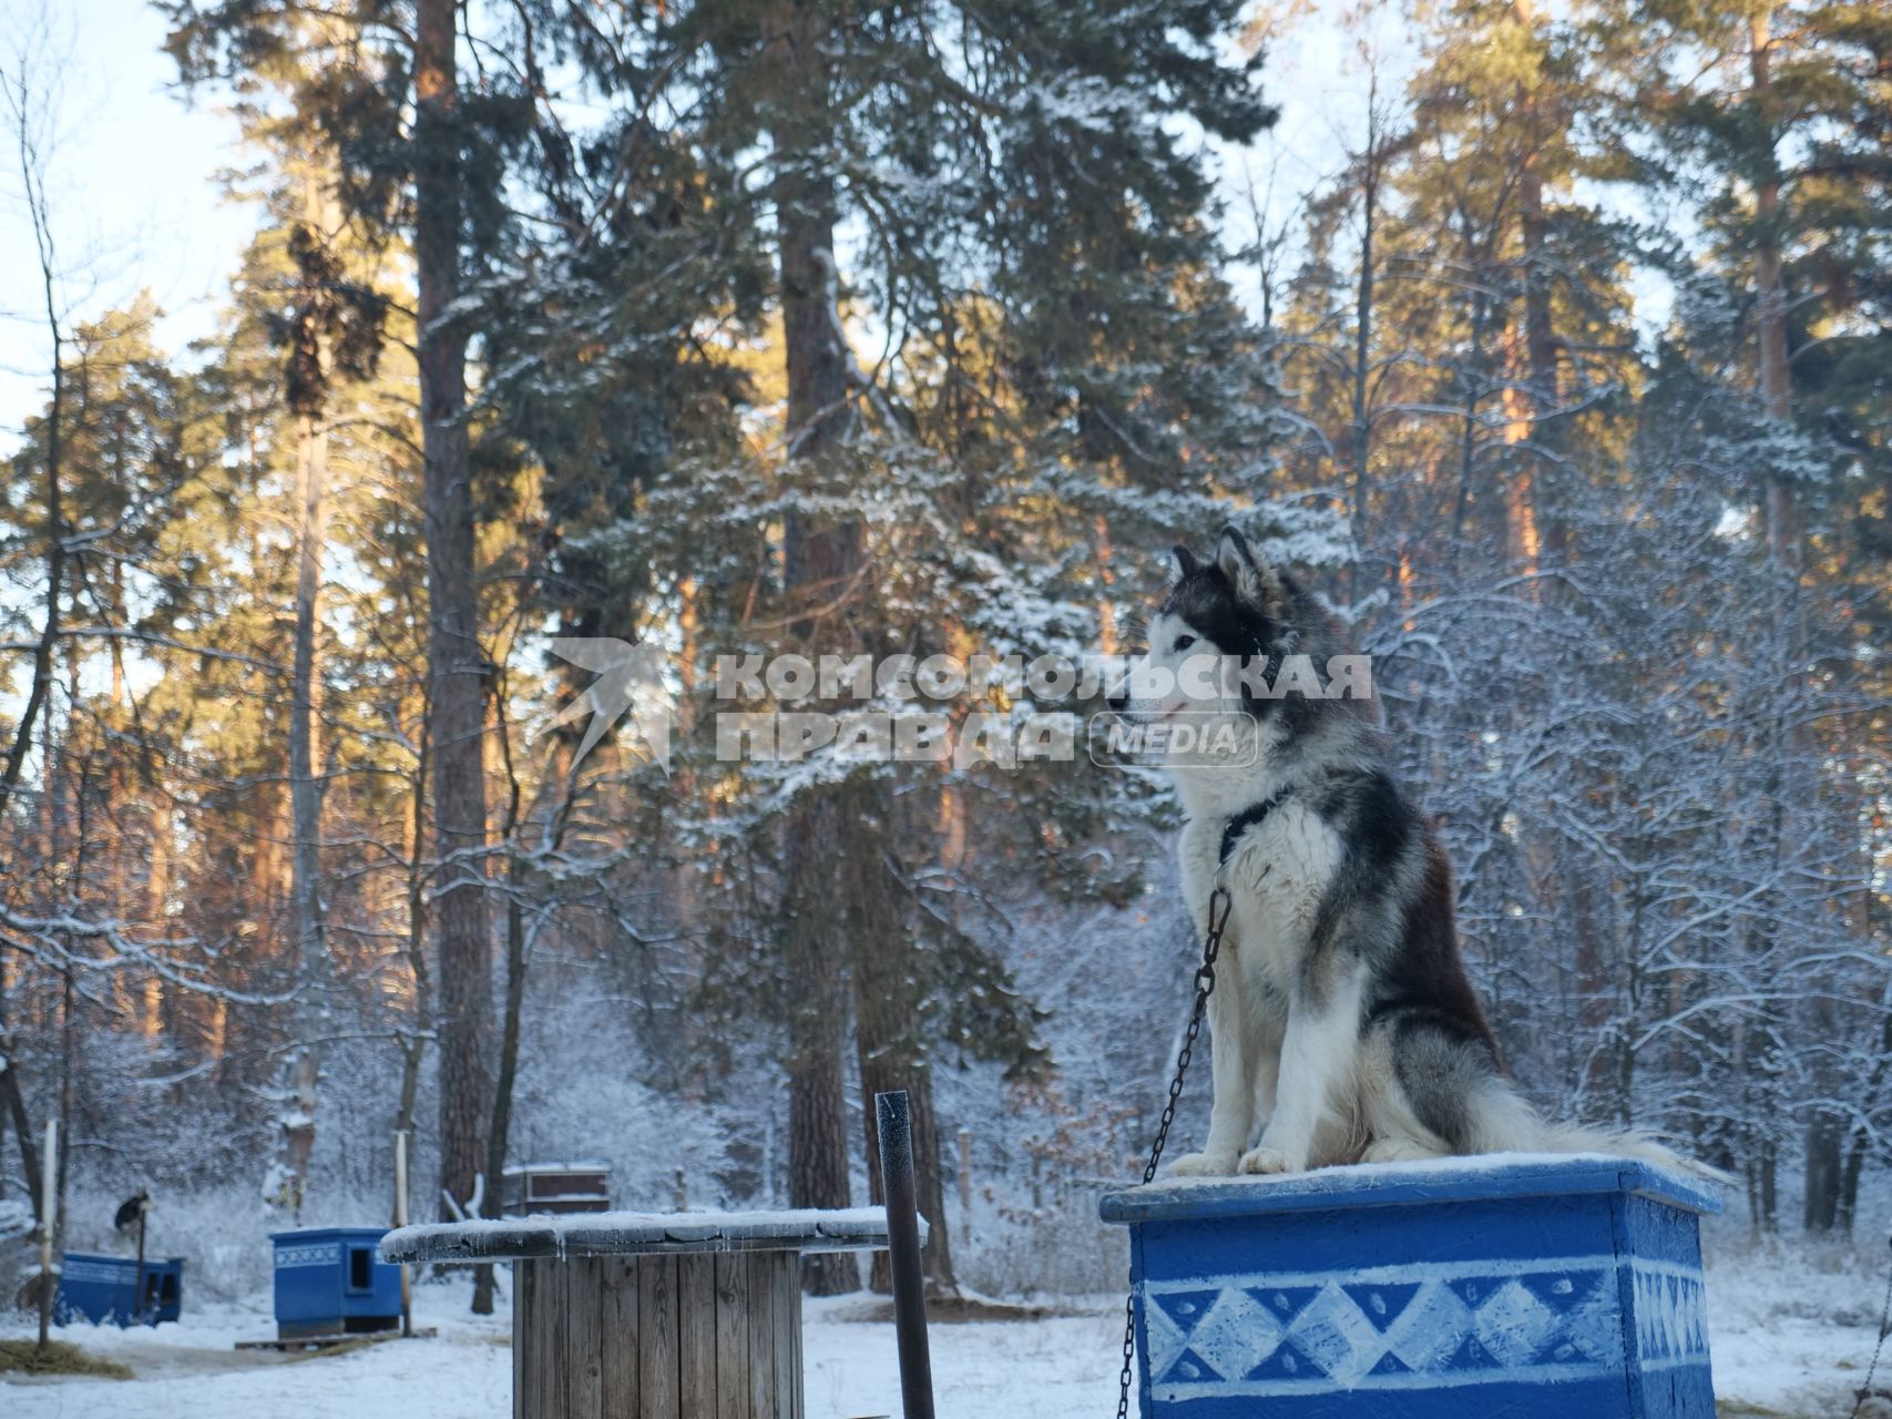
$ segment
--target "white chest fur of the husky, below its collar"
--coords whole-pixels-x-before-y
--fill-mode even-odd
[[[1198,929],[1209,921],[1217,868],[1232,899],[1228,940],[1247,976],[1285,991],[1302,959],[1315,912],[1343,846],[1340,834],[1305,804],[1288,798],[1243,832],[1224,867],[1222,823],[1190,819],[1179,844],[1182,895]]]

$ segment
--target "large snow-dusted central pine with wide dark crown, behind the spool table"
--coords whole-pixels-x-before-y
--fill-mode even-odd
[[[520,240],[471,291],[494,331],[496,433],[545,464],[545,596],[568,626],[670,636],[681,604],[687,643],[713,649],[1075,651],[1090,617],[1109,622],[1141,585],[1141,569],[1111,564],[1114,547],[1260,498],[1277,431],[1266,358],[1218,276],[1203,151],[1164,117],[1239,140],[1270,114],[1253,64],[1217,51],[1234,6],[1167,21],[1131,6],[993,17],[755,4],[609,32],[547,13],[507,32],[518,55],[568,45],[611,112],[568,132],[552,106],[535,110],[539,231],[554,235]],[[942,49],[946,32],[959,38]],[[655,112],[675,121],[658,129]],[[757,151],[762,178],[725,176]],[[969,151],[993,157],[969,165]],[[1099,187],[1099,172],[1120,182]],[[850,223],[868,238],[840,242]],[[755,259],[770,248],[772,272]],[[751,354],[764,305],[780,320],[774,369]],[[851,348],[855,314],[887,331],[885,358]],[[728,354],[675,339],[692,322]],[[770,386],[785,399],[780,441],[745,454],[717,399],[740,409],[730,401]],[[604,460],[588,456],[600,443]],[[1152,507],[1147,490],[1181,496]],[[1022,575],[1001,581],[999,558]],[[672,566],[687,571],[657,571]],[[789,643],[745,632],[751,619]],[[681,674],[708,687],[702,666]],[[772,963],[791,1201],[848,1196],[850,1012],[863,1086],[916,1099],[933,1211],[940,1042],[1037,1067],[1031,1010],[995,944],[920,885],[942,853],[938,880],[965,872],[952,844],[969,832],[1050,863],[1020,831],[1031,814],[1060,842],[1095,829],[1103,806],[1073,795],[1075,770],[1024,778],[916,793],[916,770],[823,759],[732,785],[728,766],[692,759],[664,795],[672,851],[761,893],[757,916],[708,910],[698,929]],[[679,783],[713,797],[677,798]],[[933,1273],[950,1285],[944,1235]]]

